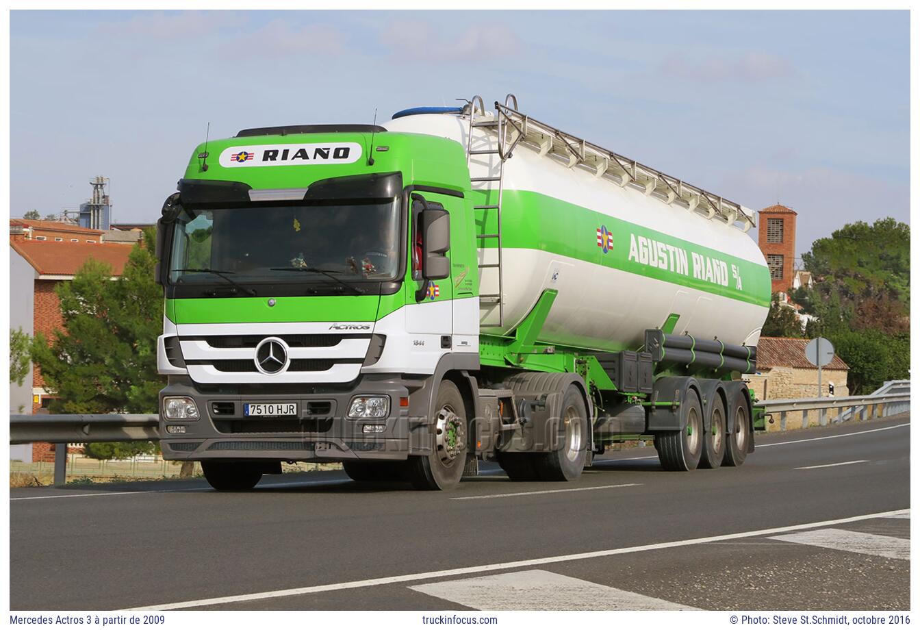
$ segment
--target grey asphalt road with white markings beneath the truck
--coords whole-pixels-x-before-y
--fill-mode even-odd
[[[741,468],[692,473],[630,449],[573,484],[16,488],[10,606],[905,610],[909,422],[758,436]]]

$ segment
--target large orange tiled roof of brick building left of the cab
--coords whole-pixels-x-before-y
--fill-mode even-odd
[[[109,263],[112,275],[121,276],[132,247],[105,243],[54,243],[10,241],[9,246],[41,275],[73,276],[89,258]]]

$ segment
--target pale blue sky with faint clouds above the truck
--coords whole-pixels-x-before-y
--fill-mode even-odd
[[[518,97],[536,120],[754,210],[797,251],[909,222],[906,11],[12,11],[10,215],[152,223],[248,127]],[[753,233],[753,231],[752,231]]]

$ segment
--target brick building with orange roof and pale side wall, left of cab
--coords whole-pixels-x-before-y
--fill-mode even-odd
[[[61,227],[34,225],[52,222],[29,223],[33,223],[29,225],[31,237],[17,229],[21,225],[10,222],[10,328],[22,328],[29,336],[40,332],[52,338],[63,323],[55,292],[57,285],[73,280],[77,269],[89,258],[108,263],[113,277],[120,276],[132,247],[99,243],[98,236],[92,238],[89,233],[101,235],[101,231],[69,223],[61,223]],[[42,235],[45,238],[40,239]],[[48,402],[49,393],[44,389],[37,367],[33,366],[21,386],[10,384],[11,413],[34,413],[40,407],[47,407]],[[33,444],[28,453],[25,449],[11,447],[11,455],[23,460],[28,457],[38,461],[47,458],[48,452],[50,445],[47,444]]]

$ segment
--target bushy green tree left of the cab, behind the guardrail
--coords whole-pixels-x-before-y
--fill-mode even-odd
[[[38,334],[32,345],[32,360],[57,396],[52,413],[156,413],[165,379],[156,373],[163,292],[154,280],[154,246],[155,238],[135,245],[115,281],[109,265],[90,258],[73,281],[58,285],[63,330],[51,339]],[[155,449],[131,444],[112,456]]]

